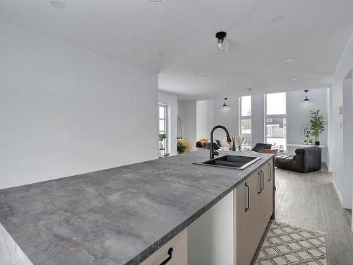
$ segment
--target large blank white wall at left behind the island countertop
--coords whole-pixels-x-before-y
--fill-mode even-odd
[[[0,20],[0,188],[157,158],[157,74]]]

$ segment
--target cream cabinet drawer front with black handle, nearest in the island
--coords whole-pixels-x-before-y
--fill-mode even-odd
[[[188,230],[187,228],[158,249],[140,265],[159,265],[169,257],[168,250],[172,248],[172,259],[166,265],[188,264]]]

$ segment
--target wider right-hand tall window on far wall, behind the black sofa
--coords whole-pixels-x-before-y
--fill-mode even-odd
[[[266,141],[275,148],[282,146],[287,151],[287,95],[273,93],[266,95]]]

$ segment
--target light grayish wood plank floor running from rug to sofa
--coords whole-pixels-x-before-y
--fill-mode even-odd
[[[276,187],[276,220],[327,232],[328,264],[353,265],[352,213],[342,208],[330,172],[276,169]]]

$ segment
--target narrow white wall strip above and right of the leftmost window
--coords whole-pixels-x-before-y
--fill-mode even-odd
[[[177,155],[177,95],[165,92],[158,92],[158,104],[168,106],[168,152],[170,153],[170,155]]]

